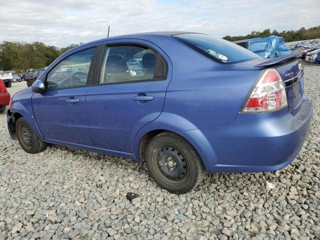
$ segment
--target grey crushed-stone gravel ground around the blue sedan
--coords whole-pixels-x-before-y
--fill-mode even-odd
[[[207,175],[182,195],[132,160],[57,145],[27,154],[0,113],[0,239],[320,239],[319,72],[305,66],[315,111],[293,163]],[[11,94],[25,82],[12,85]],[[130,202],[127,192],[139,197]]]

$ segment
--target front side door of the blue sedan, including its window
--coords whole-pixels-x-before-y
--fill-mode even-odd
[[[95,53],[96,46],[76,51],[40,77],[45,78],[46,89],[34,93],[31,101],[37,126],[44,139],[93,144],[85,111],[85,94],[90,88],[88,83],[92,78]],[[63,77],[60,77],[61,72]]]

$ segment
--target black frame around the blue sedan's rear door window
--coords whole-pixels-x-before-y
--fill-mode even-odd
[[[164,61],[165,64],[165,74],[163,77],[154,77],[154,73],[153,73],[153,78],[149,78],[149,79],[141,79],[141,80],[128,80],[128,81],[116,81],[116,82],[105,82],[105,83],[99,83],[99,77],[100,77],[100,69],[102,67],[103,64],[103,57],[104,57],[104,51],[107,47],[110,46],[123,46],[123,45],[132,45],[132,46],[139,46],[139,47],[146,47],[146,48],[150,48],[151,50],[153,50],[156,53],[156,61],[155,61],[155,66],[154,66],[154,72],[155,72],[155,68],[157,65],[157,61],[158,61],[158,57],[161,57],[162,60]],[[92,82],[91,82],[91,86],[98,86],[98,85],[114,85],[114,84],[126,84],[126,83],[135,83],[135,82],[146,82],[146,81],[161,81],[161,80],[166,80],[168,77],[168,62],[165,59],[165,57],[159,53],[158,50],[156,50],[154,47],[145,44],[145,43],[141,43],[141,42],[134,42],[134,41],[126,41],[126,42],[112,42],[112,43],[104,43],[100,46],[99,49],[99,54],[97,56],[97,60],[96,60],[96,64],[95,64],[95,68],[94,68],[94,73],[93,73],[93,77],[92,77]],[[99,63],[98,63],[99,61]]]

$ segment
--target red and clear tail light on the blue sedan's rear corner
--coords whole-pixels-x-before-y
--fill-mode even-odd
[[[241,112],[267,112],[287,106],[285,84],[277,70],[264,70]]]

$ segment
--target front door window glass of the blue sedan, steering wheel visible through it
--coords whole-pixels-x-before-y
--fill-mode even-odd
[[[46,78],[46,88],[56,89],[85,85],[95,47],[78,51],[60,61]]]

